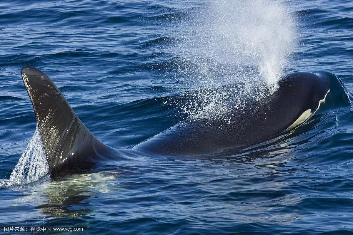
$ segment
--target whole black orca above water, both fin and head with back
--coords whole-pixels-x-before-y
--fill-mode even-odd
[[[59,173],[90,168],[119,150],[101,143],[80,121],[52,80],[37,68],[22,68],[49,164]],[[234,110],[229,120],[196,120],[177,124],[131,151],[147,155],[200,156],[269,140],[308,120],[330,91],[343,86],[329,72],[296,72],[279,81],[277,91],[262,102]]]

